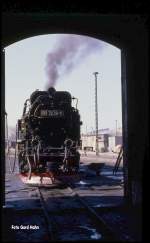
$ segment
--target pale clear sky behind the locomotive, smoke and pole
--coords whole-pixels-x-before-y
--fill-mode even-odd
[[[61,38],[62,35],[58,34],[36,36],[5,49],[5,106],[9,126],[15,126],[31,93],[36,89],[45,89],[48,79],[46,57],[56,50]],[[82,132],[95,129],[95,71],[99,72],[99,129],[115,129],[115,120],[119,127],[122,126],[120,50],[106,42],[95,41],[100,44],[96,51],[90,50],[89,46],[84,58],[76,59],[75,54],[75,65],[70,72],[60,74],[55,86],[56,90],[67,90],[78,98]]]

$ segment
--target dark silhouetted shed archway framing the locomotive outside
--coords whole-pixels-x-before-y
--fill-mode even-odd
[[[19,40],[55,33],[79,34],[108,42],[121,49],[122,121],[125,199],[142,202],[142,168],[148,151],[148,31],[138,15],[4,14],[2,21],[2,81],[5,80],[3,49]],[[2,83],[2,156],[4,158],[4,91]],[[4,160],[2,176],[4,178]]]

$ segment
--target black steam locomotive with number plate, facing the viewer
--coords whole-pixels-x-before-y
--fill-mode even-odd
[[[76,107],[72,102],[76,101]],[[80,121],[78,100],[67,91],[34,91],[17,123],[17,153],[21,174],[49,170],[79,170]]]

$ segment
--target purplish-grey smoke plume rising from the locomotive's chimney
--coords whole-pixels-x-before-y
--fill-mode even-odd
[[[54,51],[47,55],[46,90],[55,87],[60,75],[70,73],[84,58],[95,51],[101,51],[103,42],[80,35],[61,35]]]

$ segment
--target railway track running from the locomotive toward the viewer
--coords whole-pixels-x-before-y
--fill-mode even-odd
[[[49,205],[48,196],[45,196],[44,190],[41,187],[37,188],[49,240],[119,240],[97,212],[79,194],[74,192],[73,187],[70,185],[66,186],[68,192],[71,194],[67,199],[70,200],[70,204],[71,200],[76,201],[79,206],[76,209],[60,209],[57,206],[55,210],[50,209],[51,205]],[[51,194],[51,192],[49,193]],[[61,196],[57,191],[57,197],[55,198],[56,205],[60,204],[61,206]]]

